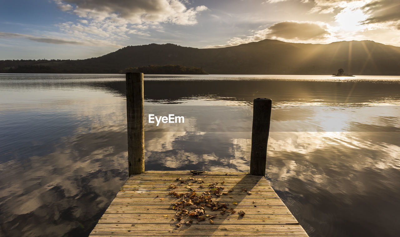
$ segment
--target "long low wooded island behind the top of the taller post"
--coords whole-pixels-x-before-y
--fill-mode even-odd
[[[208,75],[203,68],[186,67],[182,65],[165,66],[141,66],[137,68],[126,68],[124,72],[142,72],[144,74],[203,74]]]

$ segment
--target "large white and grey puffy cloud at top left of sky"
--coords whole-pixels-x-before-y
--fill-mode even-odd
[[[162,32],[162,24],[194,25],[206,6],[187,8],[179,0],[53,0],[58,8],[75,14],[76,22],[57,24],[79,41],[123,42],[132,35],[150,37],[150,30]]]

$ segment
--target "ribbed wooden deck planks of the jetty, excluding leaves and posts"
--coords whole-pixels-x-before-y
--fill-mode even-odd
[[[206,172],[193,176],[189,171],[146,171],[132,175],[122,186],[98,224],[90,233],[92,237],[104,236],[291,236],[308,237],[287,209],[275,191],[263,176],[246,175],[246,172]],[[207,177],[204,177],[204,176]],[[245,211],[244,217],[236,214],[220,215],[220,211],[205,208],[207,214],[216,214],[212,220],[194,222],[190,227],[182,223],[176,227],[178,220],[172,204],[178,201],[168,192],[187,193],[183,180],[188,177],[201,178],[200,183],[190,185],[196,192],[208,191],[208,185],[218,182],[225,190],[234,189],[229,195],[216,197],[213,200],[228,203],[229,208]],[[190,182],[190,180],[188,180]],[[220,183],[225,182],[223,185]],[[169,185],[180,185],[170,189]],[[251,195],[242,192],[242,188],[251,191]],[[231,196],[232,198],[230,198]],[[160,200],[162,199],[163,200]],[[253,203],[254,201],[254,203]],[[233,202],[237,202],[234,205]]]

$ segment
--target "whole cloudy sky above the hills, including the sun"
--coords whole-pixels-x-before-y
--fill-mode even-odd
[[[84,59],[130,45],[264,39],[400,46],[400,0],[0,0],[0,60]]]

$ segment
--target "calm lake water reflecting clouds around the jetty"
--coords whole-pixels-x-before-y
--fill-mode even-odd
[[[271,98],[266,178],[312,237],[398,236],[400,77],[148,76],[146,170],[248,171]],[[123,75],[0,75],[0,236],[87,236],[127,179]]]

